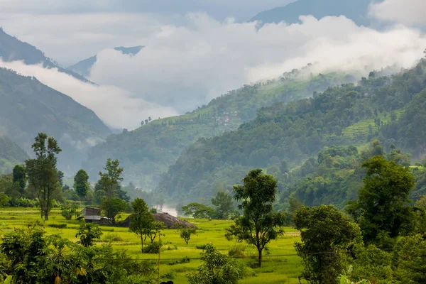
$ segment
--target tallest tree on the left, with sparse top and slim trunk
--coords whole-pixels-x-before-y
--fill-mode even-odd
[[[48,137],[45,133],[38,133],[31,147],[35,152],[35,159],[25,161],[28,182],[37,193],[41,217],[48,220],[53,199],[60,189],[56,155],[61,149],[55,138]]]

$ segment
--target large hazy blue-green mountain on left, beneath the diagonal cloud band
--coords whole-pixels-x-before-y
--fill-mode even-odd
[[[38,132],[54,136],[62,148],[58,165],[74,173],[89,146],[102,141],[110,130],[94,112],[65,94],[12,70],[0,69],[0,133],[32,153]]]

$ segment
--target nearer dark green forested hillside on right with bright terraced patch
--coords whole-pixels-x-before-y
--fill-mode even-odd
[[[309,158],[317,157],[324,146],[354,145],[361,151],[374,138],[381,141],[385,151],[401,147],[413,154],[413,160],[420,160],[425,155],[426,124],[420,122],[425,121],[425,67],[426,60],[421,60],[412,70],[398,75],[376,77],[371,72],[356,85],[342,84],[310,99],[263,107],[256,119],[237,131],[192,144],[163,175],[158,191],[173,200],[209,200],[218,190],[239,182],[251,168],[265,168],[279,177],[280,190],[289,190],[289,169],[307,160],[302,176],[313,174],[318,162]],[[356,161],[356,155],[352,151],[342,157],[354,156]],[[351,172],[354,169],[350,168]],[[349,172],[342,170],[339,175],[348,177]],[[328,186],[327,177],[316,182]],[[354,198],[347,193],[329,198],[300,193],[300,198],[307,204],[340,205]]]

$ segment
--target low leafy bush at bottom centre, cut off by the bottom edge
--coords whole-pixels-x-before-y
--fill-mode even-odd
[[[207,244],[201,253],[202,265],[197,271],[187,275],[190,284],[236,284],[241,278],[241,266],[229,258],[212,244]]]

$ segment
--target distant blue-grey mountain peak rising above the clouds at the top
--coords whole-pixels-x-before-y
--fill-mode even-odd
[[[324,16],[346,16],[359,26],[368,26],[368,5],[371,0],[297,0],[283,7],[258,13],[251,21],[261,23],[300,23],[299,17],[312,15],[315,18]]]

